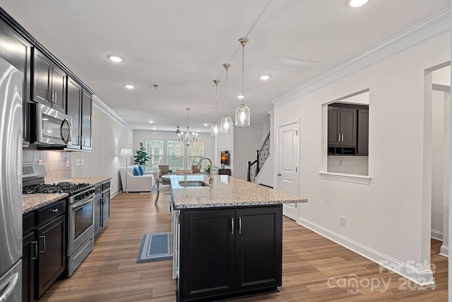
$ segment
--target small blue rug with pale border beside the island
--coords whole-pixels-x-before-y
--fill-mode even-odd
[[[171,232],[143,235],[136,263],[170,259],[172,259]]]

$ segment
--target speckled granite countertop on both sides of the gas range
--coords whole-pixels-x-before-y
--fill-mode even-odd
[[[60,180],[59,182],[75,182],[75,183],[89,183],[96,185],[100,182],[111,180],[112,178],[68,178]],[[22,214],[28,213],[40,207],[44,207],[52,202],[57,202],[60,199],[68,197],[68,193],[54,193],[54,194],[22,194]]]

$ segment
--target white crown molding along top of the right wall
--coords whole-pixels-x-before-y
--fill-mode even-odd
[[[371,50],[367,50],[357,57],[326,71],[326,73],[297,86],[277,98],[274,98],[271,102],[275,108],[290,103],[292,100],[307,95],[316,89],[333,83],[334,81],[338,81],[339,79],[371,66],[372,64],[381,62],[383,59],[392,57],[400,52],[405,52],[412,47],[420,45],[423,42],[447,33],[448,31],[451,31],[451,6],[424,21],[417,23],[411,28],[403,30],[388,40],[381,42],[379,45],[376,45],[376,47],[371,48]]]

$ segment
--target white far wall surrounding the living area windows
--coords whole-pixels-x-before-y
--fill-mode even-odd
[[[175,133],[161,133],[151,131],[134,131],[133,132],[133,145],[131,148],[133,149],[133,154],[136,155],[136,150],[140,148],[140,142],[145,144],[146,139],[162,139],[162,140],[176,140],[177,135]],[[213,157],[215,156],[215,137],[211,137],[209,134],[200,133],[198,134],[198,141],[204,141],[204,156],[210,158],[213,161]],[[186,147],[184,147],[186,151]],[[132,158],[133,161],[133,158]],[[164,159],[165,161],[165,159]],[[184,161],[186,165],[186,161]],[[208,163],[204,163],[207,167]],[[171,167],[169,167],[171,168]],[[186,168],[191,168],[186,167]]]

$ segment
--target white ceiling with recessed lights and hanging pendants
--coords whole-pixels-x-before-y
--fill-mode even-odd
[[[240,101],[251,127],[271,100],[451,5],[450,0],[2,0],[1,7],[133,129],[210,132]],[[114,64],[108,54],[124,57]],[[269,74],[270,80],[258,79]],[[215,105],[215,84],[218,105]],[[125,83],[136,86],[129,91]],[[152,84],[157,83],[157,90]],[[218,108],[218,109],[217,109]],[[148,123],[153,120],[153,124]],[[208,123],[209,127],[203,124]]]

